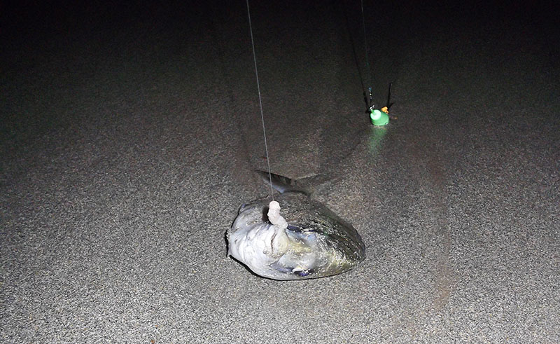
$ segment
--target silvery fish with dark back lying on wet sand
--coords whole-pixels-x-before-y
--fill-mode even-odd
[[[272,280],[338,275],[365,259],[365,245],[358,231],[311,199],[311,191],[288,177],[256,172],[279,192],[274,197],[278,203],[271,203],[272,195],[268,195],[239,207],[226,233],[228,256]],[[272,209],[273,205],[278,209]],[[271,214],[278,211],[287,226],[272,223]]]

